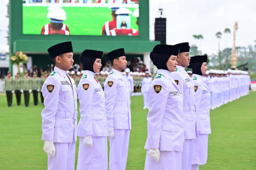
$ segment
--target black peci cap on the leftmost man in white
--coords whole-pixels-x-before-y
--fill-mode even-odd
[[[54,57],[64,54],[64,53],[73,53],[72,43],[71,43],[71,41],[59,43],[59,44],[56,44],[56,45],[48,48],[47,51],[52,59]]]

